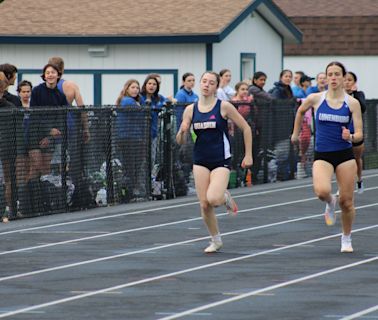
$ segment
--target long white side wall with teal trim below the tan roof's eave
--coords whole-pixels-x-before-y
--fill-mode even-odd
[[[178,70],[178,86],[185,72],[192,72],[199,78],[206,69],[206,46],[202,44],[146,44],[109,45],[106,57],[92,57],[88,45],[0,45],[1,63],[9,62],[18,69],[42,70],[48,59],[60,56],[65,61],[65,69],[79,70]],[[146,74],[147,74],[146,73]],[[102,103],[113,104],[124,83],[129,78],[137,78],[143,84],[144,74],[117,72],[104,75],[102,79]],[[24,75],[33,85],[41,82],[36,74]],[[78,83],[86,104],[93,104],[93,76],[88,74],[67,74],[67,79]],[[174,95],[173,76],[163,74],[161,94]],[[198,81],[196,90],[198,90]],[[15,92],[14,90],[11,90]]]

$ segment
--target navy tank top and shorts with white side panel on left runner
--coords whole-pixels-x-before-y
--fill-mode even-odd
[[[193,150],[193,163],[208,168],[230,168],[231,147],[227,120],[221,115],[222,101],[217,99],[209,112],[200,112],[194,103],[192,124],[197,139]]]

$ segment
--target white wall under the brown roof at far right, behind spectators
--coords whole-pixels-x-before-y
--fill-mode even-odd
[[[367,99],[378,99],[378,87],[374,80],[378,74],[377,56],[288,56],[284,58],[284,66],[292,71],[301,70],[315,78],[319,72],[325,71],[331,61],[340,61],[347,70],[357,75],[358,89],[365,93]]]

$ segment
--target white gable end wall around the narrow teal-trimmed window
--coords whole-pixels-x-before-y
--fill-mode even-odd
[[[257,13],[248,16],[221,43],[213,46],[213,67],[230,69],[231,85],[240,81],[240,53],[256,54],[256,70],[267,74],[269,90],[282,70],[282,38]]]

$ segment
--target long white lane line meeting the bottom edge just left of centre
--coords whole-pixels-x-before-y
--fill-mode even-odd
[[[197,313],[197,312],[200,312],[200,311],[203,311],[203,310],[208,310],[208,309],[211,309],[211,308],[214,308],[214,307],[225,305],[227,303],[239,301],[239,300],[260,294],[260,293],[276,290],[276,289],[279,289],[279,288],[288,287],[288,286],[291,286],[293,284],[301,283],[301,282],[304,282],[304,281],[307,281],[307,280],[322,277],[322,276],[325,276],[325,275],[328,275],[328,274],[331,274],[331,273],[335,273],[335,272],[342,271],[342,270],[345,270],[345,269],[350,269],[350,268],[357,267],[357,266],[360,266],[360,265],[363,265],[363,264],[366,264],[366,263],[371,263],[371,262],[374,262],[374,261],[377,261],[377,260],[378,260],[378,257],[374,257],[374,258],[350,263],[350,264],[347,264],[347,265],[343,265],[343,266],[340,266],[340,267],[328,269],[328,270],[325,270],[325,271],[313,273],[313,274],[310,274],[310,275],[307,275],[307,276],[304,276],[304,277],[300,277],[300,278],[297,278],[297,279],[282,282],[282,283],[272,285],[272,286],[269,286],[269,287],[265,287],[265,288],[250,291],[250,292],[247,292],[247,293],[244,293],[244,294],[240,294],[236,297],[231,297],[231,298],[227,298],[227,299],[220,300],[220,301],[217,301],[217,302],[205,304],[205,305],[197,307],[197,308],[188,309],[186,311],[179,312],[179,313],[176,313],[176,314],[168,316],[168,317],[160,318],[158,320],[178,319],[178,318],[181,318],[181,317],[184,317],[184,316],[192,315],[194,313]],[[354,318],[351,318],[351,319],[354,319]]]

